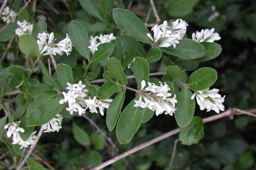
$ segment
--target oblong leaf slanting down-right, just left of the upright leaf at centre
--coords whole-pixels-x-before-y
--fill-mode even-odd
[[[120,82],[123,85],[128,84],[127,77],[124,71],[122,70],[119,60],[115,59],[114,57],[111,57],[108,60],[108,71],[111,74],[111,76],[117,80],[117,82]]]

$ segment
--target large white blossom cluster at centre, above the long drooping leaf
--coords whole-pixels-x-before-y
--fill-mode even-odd
[[[173,115],[175,112],[175,103],[177,103],[176,95],[173,98],[168,98],[172,94],[168,93],[170,90],[169,86],[164,83],[160,83],[160,86],[154,83],[148,82],[148,87],[145,88],[146,82],[141,82],[141,90],[144,92],[140,95],[139,100],[135,100],[134,107],[149,108],[152,111],[156,111],[156,115],[165,114]],[[144,100],[144,102],[142,101]]]

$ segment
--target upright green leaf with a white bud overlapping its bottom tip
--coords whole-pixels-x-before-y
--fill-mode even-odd
[[[140,57],[136,57],[133,65],[134,77],[137,82],[138,89],[141,88],[142,80],[145,80],[148,83],[149,79],[149,67],[148,62]]]

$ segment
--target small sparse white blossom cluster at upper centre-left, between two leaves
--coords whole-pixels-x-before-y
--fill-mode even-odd
[[[112,40],[116,40],[116,37],[114,37],[113,33],[111,34],[107,34],[107,35],[102,35],[100,34],[100,36],[96,36],[96,37],[93,37],[91,36],[90,37],[90,46],[88,48],[90,48],[90,51],[92,54],[95,53],[95,51],[98,51],[98,45],[102,44],[102,43],[105,43],[105,42],[111,42]],[[99,42],[98,42],[98,39],[99,39]]]

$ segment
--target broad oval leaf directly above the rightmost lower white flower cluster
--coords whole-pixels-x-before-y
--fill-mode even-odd
[[[189,85],[195,91],[204,90],[212,86],[217,77],[217,71],[213,68],[199,68],[190,75]]]

